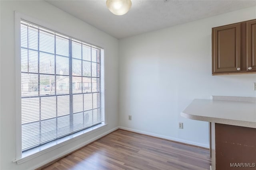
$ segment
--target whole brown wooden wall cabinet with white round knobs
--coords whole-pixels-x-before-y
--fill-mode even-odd
[[[212,75],[256,73],[256,19],[212,28]]]

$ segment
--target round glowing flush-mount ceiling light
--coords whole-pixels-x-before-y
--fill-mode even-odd
[[[131,6],[131,0],[107,0],[106,1],[107,7],[113,14],[117,16],[122,16],[126,14]]]

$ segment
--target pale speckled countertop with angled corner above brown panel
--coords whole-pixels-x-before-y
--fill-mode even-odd
[[[188,119],[256,128],[256,103],[194,99],[180,113]]]

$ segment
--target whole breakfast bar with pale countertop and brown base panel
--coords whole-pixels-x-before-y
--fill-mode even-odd
[[[256,169],[256,98],[194,99],[180,115],[210,122],[212,170]]]

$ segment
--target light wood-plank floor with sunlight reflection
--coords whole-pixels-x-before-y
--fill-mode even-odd
[[[207,149],[117,130],[42,170],[209,170]]]

